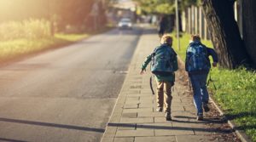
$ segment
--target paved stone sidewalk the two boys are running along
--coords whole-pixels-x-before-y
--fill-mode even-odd
[[[143,60],[159,45],[155,33],[149,27],[143,31],[102,142],[233,141],[224,139],[224,135],[232,132],[230,128],[223,128],[218,116],[206,116],[203,122],[195,120],[195,106],[188,84],[183,82],[186,80],[183,71],[177,72],[172,88],[173,120],[166,122],[164,113],[155,111],[155,96],[149,88],[149,66],[144,75],[139,74]]]

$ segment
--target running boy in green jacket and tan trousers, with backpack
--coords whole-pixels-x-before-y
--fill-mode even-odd
[[[155,81],[157,84],[157,94],[156,94],[156,103],[157,109],[156,111],[165,111],[166,121],[171,121],[171,104],[172,104],[172,86],[175,82],[175,75],[174,71],[177,71],[177,54],[172,49],[172,37],[169,35],[164,35],[161,37],[161,45],[154,49],[154,53],[148,55],[147,59],[144,61],[142,66],[141,74],[146,71],[146,67],[150,61],[152,61],[151,71],[160,69],[160,63],[157,63],[156,60],[157,56],[160,54],[168,54],[169,57],[165,57],[166,59],[170,60],[170,67],[165,69],[163,67],[162,71],[165,71],[165,74],[161,74],[162,71],[153,71],[155,75]],[[167,53],[170,52],[170,53]],[[172,65],[171,65],[172,64]],[[166,65],[165,65],[166,66]],[[165,106],[165,107],[164,107]]]

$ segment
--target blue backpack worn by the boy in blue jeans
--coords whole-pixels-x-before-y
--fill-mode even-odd
[[[209,71],[211,65],[207,48],[201,43],[190,43],[187,49],[187,71]]]

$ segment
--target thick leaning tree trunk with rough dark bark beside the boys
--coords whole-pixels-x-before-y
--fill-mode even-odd
[[[219,63],[229,69],[250,63],[235,20],[234,2],[234,0],[201,0]]]

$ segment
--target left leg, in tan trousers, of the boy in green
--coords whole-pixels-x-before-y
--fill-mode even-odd
[[[163,102],[164,102],[164,82],[157,82],[157,92],[156,92],[156,105],[157,105],[157,111],[162,111],[163,109]]]

